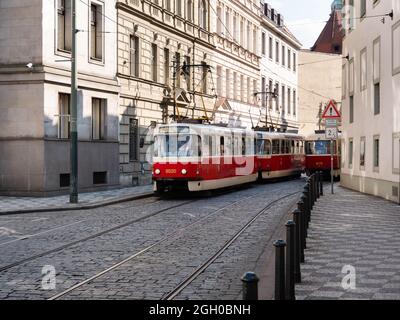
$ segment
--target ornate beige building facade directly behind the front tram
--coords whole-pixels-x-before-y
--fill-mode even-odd
[[[211,117],[215,86],[209,66],[215,45],[210,2],[117,1],[117,11],[120,183],[150,184],[154,127]]]

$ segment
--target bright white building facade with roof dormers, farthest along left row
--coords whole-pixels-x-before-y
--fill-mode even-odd
[[[261,11],[261,89],[263,121],[268,127],[298,130],[298,56],[301,43],[268,3]],[[276,92],[274,96],[272,92]]]

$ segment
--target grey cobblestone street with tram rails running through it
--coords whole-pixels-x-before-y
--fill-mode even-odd
[[[303,185],[300,179],[211,198],[153,197],[85,211],[0,216],[0,299],[48,299],[132,255],[60,298],[161,299],[271,203],[177,296],[240,299],[241,275],[261,268],[260,256],[272,250],[273,235]],[[42,288],[45,265],[56,270],[55,290]]]

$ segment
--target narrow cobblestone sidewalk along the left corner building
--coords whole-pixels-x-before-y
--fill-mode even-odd
[[[121,188],[108,191],[81,193],[79,204],[69,203],[69,196],[56,196],[45,198],[33,197],[3,197],[0,196],[0,214],[18,213],[27,211],[41,210],[61,210],[90,208],[94,205],[102,205],[115,201],[128,200],[145,194],[152,193],[152,186],[140,186],[131,188]]]

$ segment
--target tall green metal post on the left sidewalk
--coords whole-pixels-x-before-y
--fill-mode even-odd
[[[71,1],[72,11],[72,53],[71,53],[71,182],[70,202],[78,203],[78,70],[76,35],[76,0]]]

